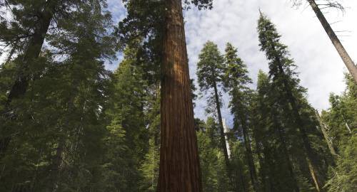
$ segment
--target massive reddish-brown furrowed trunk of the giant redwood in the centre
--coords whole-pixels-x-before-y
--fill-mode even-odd
[[[165,5],[158,191],[201,192],[181,0]]]

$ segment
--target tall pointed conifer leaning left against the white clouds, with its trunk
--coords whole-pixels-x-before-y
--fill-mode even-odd
[[[261,14],[258,21],[258,33],[261,50],[266,52],[266,58],[270,62],[269,76],[272,80],[272,89],[279,92],[279,97],[285,102],[281,103],[281,105],[285,107],[288,112],[286,114],[290,116],[293,120],[293,125],[298,130],[304,154],[306,154],[306,165],[310,169],[311,178],[315,183],[316,190],[323,191],[324,175],[318,166],[319,162],[316,152],[313,150],[308,138],[308,127],[312,127],[313,122],[307,122],[303,119],[302,109],[303,106],[307,105],[304,99],[298,99],[303,98],[304,89],[298,85],[298,79],[295,77],[296,72],[292,70],[295,64],[288,57],[286,46],[280,43],[280,36],[276,32],[275,26],[263,14]]]

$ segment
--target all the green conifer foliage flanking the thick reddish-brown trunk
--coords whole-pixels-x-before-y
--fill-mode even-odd
[[[0,52],[9,53],[0,65],[0,191],[157,190],[166,4],[123,2],[128,13],[115,28],[105,0],[0,0],[0,11],[11,15],[0,16]],[[212,1],[183,5],[211,9]],[[338,153],[333,157],[316,129],[296,64],[263,14],[258,38],[269,73],[258,73],[256,91],[231,43],[221,55],[208,41],[199,55],[199,90],[208,95],[213,116],[195,119],[203,191],[315,191],[297,116],[318,171],[328,178],[324,189],[354,191],[356,82],[346,75],[346,91],[331,95],[331,108],[322,112]],[[116,49],[124,51],[124,60],[112,73],[104,63],[115,58]],[[28,80],[26,92],[9,105],[9,91],[21,76]],[[191,91],[195,100],[193,80]],[[226,133],[229,171],[216,120],[224,92],[233,116]],[[252,170],[259,188],[253,187]]]

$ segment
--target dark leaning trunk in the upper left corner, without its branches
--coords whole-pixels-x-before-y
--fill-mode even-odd
[[[41,53],[42,45],[44,44],[44,39],[47,31],[49,30],[49,25],[52,18],[54,17],[54,10],[56,8],[55,0],[49,0],[46,2],[44,11],[39,10],[39,21],[36,23],[34,28],[34,33],[29,40],[29,44],[24,50],[24,54],[21,55],[21,60],[19,60],[20,70],[17,74],[14,85],[12,85],[9,95],[7,96],[5,103],[5,119],[9,119],[13,116],[11,114],[11,102],[14,99],[19,99],[24,96],[29,86],[29,80],[31,75],[29,74],[29,65],[32,65],[34,60],[39,57]],[[10,127],[4,127],[4,129],[10,129]],[[6,136],[0,139],[0,159],[5,155],[7,147],[11,141],[10,136]]]

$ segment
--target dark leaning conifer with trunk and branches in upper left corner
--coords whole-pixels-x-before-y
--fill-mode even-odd
[[[44,41],[51,45],[51,52],[56,56],[68,57],[75,51],[75,46],[80,43],[74,41],[78,38],[79,31],[87,31],[90,24],[94,26],[109,26],[108,21],[111,20],[111,16],[106,11],[106,3],[102,0],[96,1],[12,1],[6,0],[1,6],[7,6],[14,15],[14,21],[11,19],[1,20],[1,36],[0,41],[4,43],[4,46],[11,48],[11,54],[8,61],[11,61],[16,66],[16,72],[14,72],[14,79],[11,81],[11,85],[7,86],[6,102],[4,103],[3,111],[1,112],[1,118],[5,121],[16,121],[16,111],[18,106],[21,105],[22,97],[25,96],[29,90],[29,85],[33,80],[41,78],[41,73],[46,70],[46,65],[39,65],[41,62],[41,48]],[[69,9],[69,8],[73,9]],[[85,21],[85,16],[88,15],[88,11],[94,11],[97,17],[89,23]],[[73,13],[71,13],[73,11]],[[101,11],[98,13],[98,11]],[[100,14],[100,16],[98,16]],[[56,19],[54,19],[56,18]],[[98,23],[98,21],[101,23]],[[71,21],[71,22],[69,22]],[[100,24],[100,25],[98,25]],[[9,27],[8,27],[9,26]],[[51,30],[49,30],[51,29]],[[106,33],[106,29],[98,28],[89,29],[96,31],[96,33]],[[83,34],[82,34],[83,35]],[[89,34],[91,35],[91,34]],[[112,38],[101,38],[99,41],[103,43],[106,41],[106,53],[101,56],[106,57],[113,55]],[[60,43],[59,43],[60,42]],[[83,42],[82,42],[83,43]],[[104,47],[101,47],[104,48]],[[48,50],[49,51],[49,50]],[[97,50],[100,52],[101,50]],[[112,53],[109,53],[112,52]],[[97,55],[97,53],[96,53]],[[14,57],[14,59],[13,59]],[[42,67],[42,68],[39,68]],[[13,104],[14,100],[16,103]],[[1,132],[9,132],[9,127],[6,125],[1,126]],[[4,154],[11,137],[9,135],[1,134],[1,154]]]

